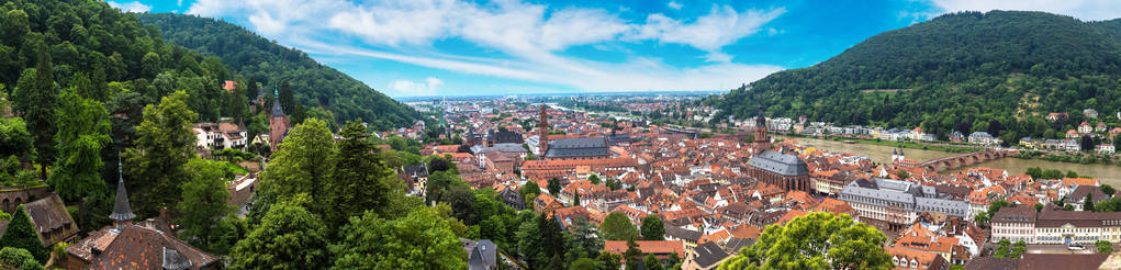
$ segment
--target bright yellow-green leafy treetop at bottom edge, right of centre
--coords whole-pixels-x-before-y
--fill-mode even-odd
[[[720,269],[891,269],[888,238],[847,215],[815,212],[770,225]]]

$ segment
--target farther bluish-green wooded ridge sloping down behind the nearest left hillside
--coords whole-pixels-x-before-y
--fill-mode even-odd
[[[278,90],[287,82],[298,104],[285,108],[293,114],[330,117],[336,122],[362,119],[379,130],[410,125],[419,119],[411,108],[316,63],[304,52],[280,46],[234,24],[188,15],[136,16],[143,24],[158,27],[169,43],[217,56],[268,90]],[[257,93],[248,94],[252,97]]]

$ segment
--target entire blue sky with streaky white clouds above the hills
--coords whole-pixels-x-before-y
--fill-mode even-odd
[[[307,52],[391,96],[728,90],[961,10],[1121,17],[1109,0],[117,0]]]

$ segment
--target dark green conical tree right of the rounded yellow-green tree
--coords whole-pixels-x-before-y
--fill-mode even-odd
[[[324,212],[327,225],[341,227],[351,215],[365,210],[382,217],[400,214],[392,213],[388,206],[404,189],[393,177],[393,170],[374,153],[376,147],[368,140],[365,127],[348,122],[340,134],[343,140],[337,145],[335,168],[325,189],[331,202],[331,211]]]

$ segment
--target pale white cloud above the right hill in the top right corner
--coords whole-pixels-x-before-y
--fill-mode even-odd
[[[1072,16],[1082,20],[1121,18],[1115,0],[929,0],[946,12],[990,10],[1035,10]]]

